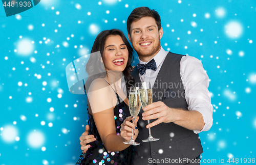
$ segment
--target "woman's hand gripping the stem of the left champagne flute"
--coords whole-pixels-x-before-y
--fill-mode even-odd
[[[121,133],[120,135],[123,137],[123,139],[125,139],[126,142],[129,142],[131,140],[131,136],[132,136],[132,128],[133,128],[133,139],[136,140],[138,134],[139,134],[139,130],[137,128],[137,122],[139,120],[139,117],[137,116],[136,120],[134,121],[134,124],[131,123],[130,121],[132,119],[134,119],[135,117],[127,117],[123,123],[121,124]]]

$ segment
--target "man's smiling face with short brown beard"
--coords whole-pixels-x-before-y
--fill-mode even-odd
[[[152,59],[161,49],[160,39],[163,29],[158,31],[156,21],[153,17],[142,17],[131,24],[131,36],[133,48],[137,51],[140,60],[147,62]]]

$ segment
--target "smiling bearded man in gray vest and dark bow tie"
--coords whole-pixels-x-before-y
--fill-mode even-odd
[[[210,129],[213,109],[209,78],[201,62],[164,51],[160,44],[161,19],[155,10],[134,9],[127,19],[127,31],[139,56],[132,72],[135,82],[150,81],[154,85],[153,103],[144,107],[145,112],[140,111],[138,124],[127,118],[121,125],[121,136],[127,141],[132,128],[139,130],[136,141],[140,145],[135,146],[133,164],[200,164],[203,149],[197,133]],[[141,142],[148,137],[147,128],[160,140]],[[87,126],[80,137],[82,150],[94,141],[88,130]]]

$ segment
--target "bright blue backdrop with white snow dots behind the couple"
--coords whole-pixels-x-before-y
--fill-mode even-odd
[[[102,30],[127,36],[141,6],[159,12],[162,47],[198,58],[210,78],[214,123],[199,134],[202,159],[256,158],[255,1],[45,0],[10,17],[0,7],[1,165],[77,161],[87,97],[69,92],[65,68]]]

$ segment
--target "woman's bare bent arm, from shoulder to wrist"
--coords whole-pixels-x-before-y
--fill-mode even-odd
[[[101,140],[108,151],[122,151],[130,145],[120,135],[116,133],[114,107],[117,102],[116,94],[110,86],[102,86],[106,84],[103,80],[97,80],[92,86],[92,90],[88,93],[92,115],[101,137]],[[134,131],[135,138],[138,130]]]

